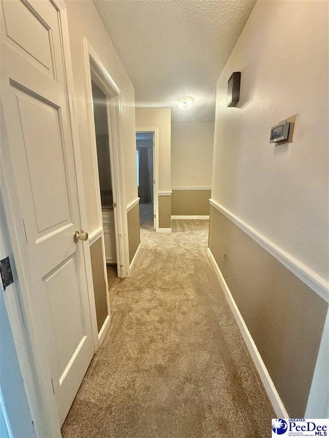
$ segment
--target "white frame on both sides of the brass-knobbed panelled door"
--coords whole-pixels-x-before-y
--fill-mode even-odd
[[[83,188],[82,163],[79,145],[79,134],[77,125],[77,111],[74,95],[74,81],[71,66],[71,54],[68,36],[66,6],[62,0],[51,0],[59,13],[60,35],[63,50],[63,61],[66,79],[66,91],[68,95],[68,109],[71,121],[71,135],[74,148],[76,180],[78,187],[78,199],[80,206],[81,228],[86,230],[87,215],[85,210],[85,197]],[[3,80],[3,79],[2,79]],[[41,318],[38,313],[38,302],[33,291],[31,268],[28,262],[26,250],[26,237],[24,223],[19,204],[17,202],[17,189],[15,185],[14,172],[11,161],[11,152],[8,144],[5,126],[2,121],[2,147],[1,147],[1,193],[4,203],[4,212],[8,224],[10,244],[13,252],[13,263],[17,272],[17,289],[19,290],[21,302],[16,306],[6,306],[17,357],[19,359],[22,376],[26,386],[26,395],[33,418],[33,424],[37,436],[61,436],[58,420],[56,401],[51,384],[51,374],[47,355],[44,330]],[[84,264],[87,280],[92,279],[90,253],[88,242],[83,242]],[[89,288],[88,297],[90,318],[92,320],[93,334],[97,333],[97,320],[94,290]],[[19,308],[21,306],[21,308]],[[21,321],[19,316],[23,314],[25,333],[22,339]],[[98,337],[93,336],[95,350],[99,346]]]

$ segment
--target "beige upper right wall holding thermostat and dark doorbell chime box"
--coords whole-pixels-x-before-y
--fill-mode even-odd
[[[227,108],[227,81],[241,97]],[[295,142],[271,126],[299,113]],[[328,3],[258,1],[217,83],[212,198],[328,278]]]

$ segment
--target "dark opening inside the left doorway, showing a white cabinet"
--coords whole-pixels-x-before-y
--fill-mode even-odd
[[[111,168],[110,138],[111,126],[108,124],[107,98],[106,94],[96,84],[92,74],[92,93],[94,108],[94,123],[97,146],[97,163],[99,189],[102,209],[102,225],[104,235],[104,250],[106,261],[107,288],[109,302],[115,295],[114,285],[118,283],[117,250],[116,250],[116,227],[114,220],[114,194],[115,182]],[[105,305],[105,303],[104,303]],[[105,309],[104,309],[105,311]]]

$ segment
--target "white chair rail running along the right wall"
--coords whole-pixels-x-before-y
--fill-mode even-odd
[[[228,219],[230,219],[235,225],[250,236],[255,242],[259,243],[264,250],[269,252],[273,257],[279,260],[289,271],[302,280],[310,289],[317,293],[326,302],[329,302],[329,283],[322,277],[320,277],[312,269],[305,266],[295,257],[291,256],[280,248],[275,243],[262,236],[258,231],[254,230],[251,226],[243,222],[240,218],[230,213],[222,205],[217,204],[213,199],[210,199],[210,204],[216,208],[219,212],[223,213]]]

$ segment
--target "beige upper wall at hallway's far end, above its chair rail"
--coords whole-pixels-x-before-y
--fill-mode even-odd
[[[171,125],[171,184],[211,187],[214,123]]]

